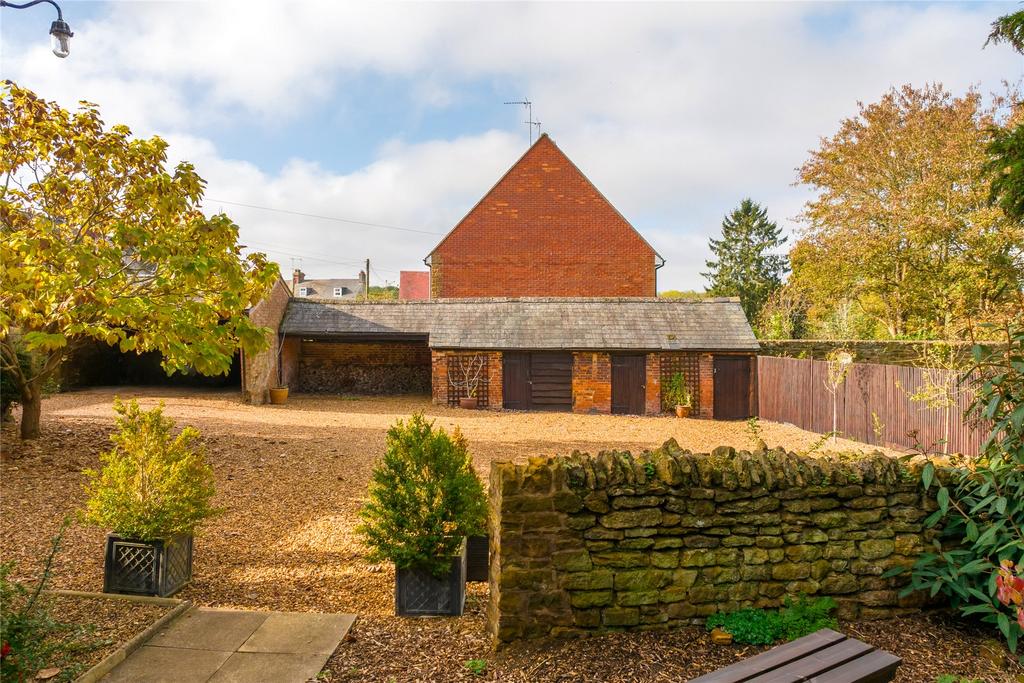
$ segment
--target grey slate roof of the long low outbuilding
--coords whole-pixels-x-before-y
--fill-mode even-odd
[[[452,349],[759,348],[735,298],[293,299],[281,330],[338,339],[425,336],[431,348]]]

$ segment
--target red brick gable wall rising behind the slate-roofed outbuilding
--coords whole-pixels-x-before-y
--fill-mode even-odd
[[[430,260],[433,297],[655,295],[654,250],[546,135]]]

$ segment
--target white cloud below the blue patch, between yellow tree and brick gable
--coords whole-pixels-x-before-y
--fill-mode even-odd
[[[207,140],[175,136],[168,141],[176,156],[202,169],[208,183],[206,209],[230,215],[240,225],[242,243],[267,252],[282,264],[286,276],[293,256],[301,257],[307,274],[319,276],[354,276],[362,260],[371,258],[374,270],[392,282],[397,282],[398,269],[425,267],[423,257],[453,221],[504,172],[504,160],[521,152],[515,136],[490,131],[451,141],[391,141],[377,161],[347,175],[299,159],[267,175],[247,162],[220,158]],[[274,213],[234,203],[297,208],[302,213],[433,233]]]

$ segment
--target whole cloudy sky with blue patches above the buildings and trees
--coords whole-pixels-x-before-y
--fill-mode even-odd
[[[1024,74],[982,49],[1019,3],[61,5],[68,59],[49,52],[52,7],[0,10],[0,76],[165,137],[207,179],[206,208],[286,273],[354,276],[370,258],[372,284],[422,269],[525,151],[505,100],[532,100],[665,256],[660,289],[701,289],[708,238],[743,197],[795,228],[796,168],[858,100]]]

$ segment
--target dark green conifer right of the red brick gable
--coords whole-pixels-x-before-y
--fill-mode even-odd
[[[768,212],[744,199],[722,220],[722,239],[709,240],[715,260],[707,261],[708,294],[737,296],[748,321],[755,321],[768,297],[782,284],[786,271],[781,228]]]

